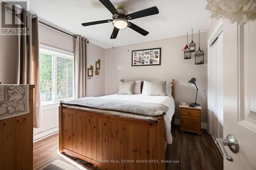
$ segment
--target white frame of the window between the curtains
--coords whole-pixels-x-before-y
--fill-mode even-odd
[[[73,60],[74,64],[74,53],[68,52],[65,50],[60,50],[58,48],[48,46],[45,44],[39,44],[39,53],[44,53],[52,56],[52,91],[55,91],[54,87],[57,86],[57,57],[59,58],[65,58],[65,59],[71,59]],[[74,66],[73,66],[73,72],[74,72]],[[74,81],[74,76],[73,76],[73,97],[72,98],[65,98],[62,99],[63,101],[69,101],[69,100],[74,100],[75,99],[75,81]],[[56,104],[58,103],[57,101],[54,102],[55,100],[55,93],[52,92],[52,100],[51,101],[45,101],[41,102],[41,105],[49,105],[49,104]]]

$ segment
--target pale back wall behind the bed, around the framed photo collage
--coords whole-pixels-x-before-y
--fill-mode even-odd
[[[201,50],[205,52],[207,59],[207,34],[201,33]],[[190,39],[190,36],[189,36]],[[194,35],[198,45],[198,34]],[[105,94],[118,92],[120,79],[125,80],[168,80],[176,79],[175,102],[176,118],[180,118],[180,102],[194,103],[196,96],[195,87],[189,86],[187,82],[195,77],[199,88],[198,101],[202,106],[203,123],[207,123],[207,61],[203,65],[195,65],[195,58],[183,59],[181,51],[186,43],[186,37],[173,37],[162,40],[132,44],[108,48],[105,50]],[[158,66],[131,66],[132,51],[147,48],[161,47],[161,65]],[[129,48],[129,52],[127,49]],[[197,46],[198,50],[198,46]]]

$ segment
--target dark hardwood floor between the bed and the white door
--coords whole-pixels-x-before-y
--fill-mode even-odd
[[[173,143],[165,151],[166,160],[179,160],[179,163],[166,163],[165,169],[223,169],[223,157],[214,140],[205,131],[195,133],[179,131],[172,127]]]

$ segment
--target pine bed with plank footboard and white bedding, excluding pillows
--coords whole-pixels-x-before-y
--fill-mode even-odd
[[[112,94],[61,103],[59,152],[103,169],[165,169],[175,110],[172,84],[172,96]]]

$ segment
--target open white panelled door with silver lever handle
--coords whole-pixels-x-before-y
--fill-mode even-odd
[[[256,169],[256,22],[223,23],[223,138],[233,134],[239,152],[224,169]]]

